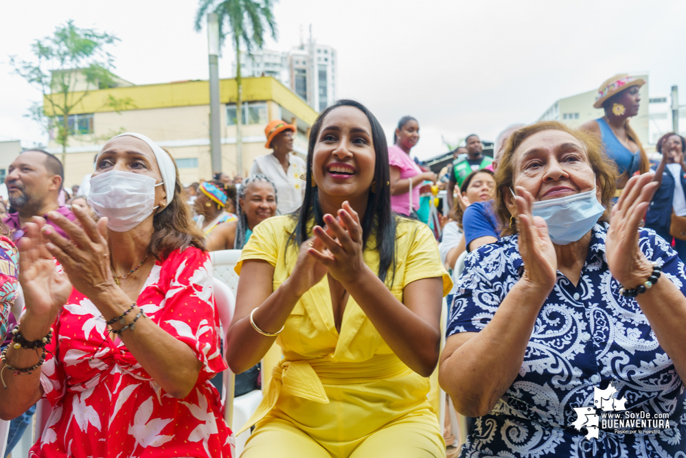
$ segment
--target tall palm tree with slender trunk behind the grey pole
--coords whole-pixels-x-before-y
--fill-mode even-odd
[[[240,47],[244,45],[248,53],[254,47],[262,49],[264,33],[268,29],[276,40],[276,23],[272,14],[273,0],[200,0],[195,16],[195,30],[203,28],[203,18],[208,12],[214,12],[219,19],[219,45],[224,44],[227,35],[231,36],[233,49],[236,51],[236,165],[242,174],[242,111],[243,80],[240,75]],[[226,24],[225,24],[226,23]]]

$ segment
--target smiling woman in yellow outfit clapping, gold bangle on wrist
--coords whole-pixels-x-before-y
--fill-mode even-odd
[[[378,121],[350,100],[312,126],[304,204],[256,226],[227,334],[235,372],[273,341],[243,458],[445,457],[426,400],[450,290],[431,231],[391,212]]]

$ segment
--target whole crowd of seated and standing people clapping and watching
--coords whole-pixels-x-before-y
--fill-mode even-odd
[[[244,458],[685,456],[686,139],[665,134],[651,163],[630,126],[642,84],[604,82],[604,116],[578,129],[507,126],[492,157],[469,135],[439,174],[410,156],[417,119],[388,146],[352,100],[320,113],[305,160],[295,126],[269,123],[245,179],[184,187],[168,151],[124,133],[65,198],[60,161],[22,152],[0,226],[10,450],[44,398],[32,457],[235,456],[211,379],[276,343]],[[227,249],[228,329],[208,253]],[[459,440],[428,402],[437,367]],[[668,427],[573,427],[610,385]]]

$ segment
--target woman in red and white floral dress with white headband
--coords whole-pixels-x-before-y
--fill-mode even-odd
[[[126,133],[98,155],[98,222],[78,206],[81,227],[49,214],[73,243],[27,224],[26,313],[0,364],[0,417],[47,398],[32,456],[231,456],[209,382],[226,367],[211,262],[181,189],[170,155]]]

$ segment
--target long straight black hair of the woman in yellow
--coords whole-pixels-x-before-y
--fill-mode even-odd
[[[302,207],[293,213],[293,218],[297,219],[295,231],[290,235],[293,240],[295,249],[300,244],[303,244],[311,235],[311,227],[308,222],[310,218],[314,218],[315,224],[323,226],[323,214],[319,206],[319,193],[317,187],[312,187],[312,157],[315,153],[315,144],[317,144],[317,137],[323,120],[332,110],[340,106],[353,106],[367,115],[369,124],[371,125],[371,144],[374,146],[376,154],[376,164],[374,165],[374,181],[376,183],[376,192],[369,192],[367,197],[367,210],[365,216],[362,218],[362,233],[363,233],[363,249],[367,248],[367,240],[369,236],[374,233],[376,235],[376,247],[379,253],[379,270],[378,277],[382,282],[386,281],[387,273],[391,264],[393,272],[396,267],[396,217],[391,210],[391,187],[387,184],[391,179],[391,172],[388,164],[388,146],[386,144],[386,135],[384,134],[381,124],[371,111],[366,106],[354,100],[339,100],[333,105],[326,108],[319,114],[315,124],[310,128],[310,144],[307,151],[307,179],[308,183],[305,190],[305,198]],[[391,284],[393,279],[391,278]]]

